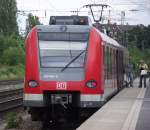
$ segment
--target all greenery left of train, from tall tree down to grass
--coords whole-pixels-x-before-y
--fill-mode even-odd
[[[0,80],[24,74],[24,39],[18,35],[16,16],[16,0],[0,0]]]

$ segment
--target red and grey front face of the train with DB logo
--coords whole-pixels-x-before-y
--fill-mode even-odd
[[[88,25],[33,28],[26,40],[24,87],[32,119],[72,118],[81,109],[99,107],[101,51],[100,38]]]

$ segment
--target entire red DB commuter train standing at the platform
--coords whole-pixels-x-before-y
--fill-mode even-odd
[[[25,54],[23,104],[32,120],[77,120],[123,88],[127,49],[87,16],[51,16],[29,32]]]

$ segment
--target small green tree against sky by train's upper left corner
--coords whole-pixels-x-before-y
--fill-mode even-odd
[[[33,14],[28,15],[28,19],[26,20],[26,32],[27,34],[29,31],[35,26],[41,24],[39,18],[37,16],[33,16]]]

